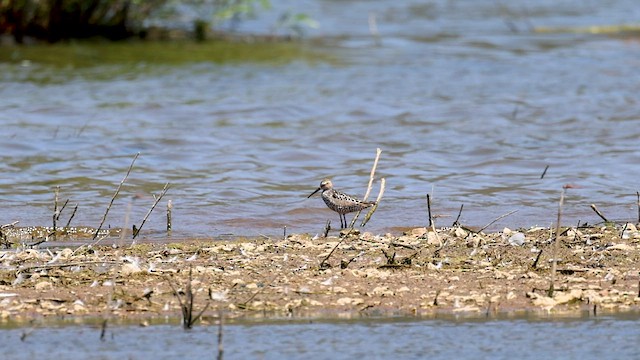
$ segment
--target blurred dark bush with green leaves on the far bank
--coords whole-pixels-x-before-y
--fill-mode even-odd
[[[270,9],[269,0],[0,0],[0,35],[50,43],[68,39],[122,40],[178,31],[204,40],[224,24]],[[285,14],[274,27],[301,35],[317,23],[304,14]],[[154,32],[156,31],[156,32]]]

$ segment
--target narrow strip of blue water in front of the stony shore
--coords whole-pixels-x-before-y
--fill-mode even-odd
[[[635,359],[640,322],[630,318],[361,320],[226,325],[225,359]],[[217,327],[177,324],[4,329],[3,358],[203,359]],[[21,341],[21,337],[24,341]]]

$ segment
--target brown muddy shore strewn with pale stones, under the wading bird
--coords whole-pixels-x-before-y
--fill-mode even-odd
[[[125,246],[14,243],[0,251],[0,319],[180,318],[190,272],[193,311],[206,309],[205,318],[638,311],[636,227],[562,230],[557,248],[544,228]]]

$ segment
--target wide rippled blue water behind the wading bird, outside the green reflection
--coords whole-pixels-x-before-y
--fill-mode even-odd
[[[130,203],[129,223],[139,224],[171,182],[176,237],[317,233],[338,217],[306,196],[324,177],[362,196],[378,147],[387,189],[373,232],[425,225],[427,193],[445,216],[437,225],[464,204],[465,225],[518,210],[494,229],[548,226],[567,183],[580,188],[568,192],[566,223],[600,221],[591,203],[635,220],[637,34],[528,29],[634,23],[636,5],[284,2],[241,30],[266,30],[292,7],[321,24],[308,36],[324,40],[305,46],[335,60],[2,63],[0,222],[49,225],[59,185],[63,201],[79,204],[73,224],[97,226],[140,152],[107,225],[122,226]],[[143,236],[164,235],[164,207]]]

